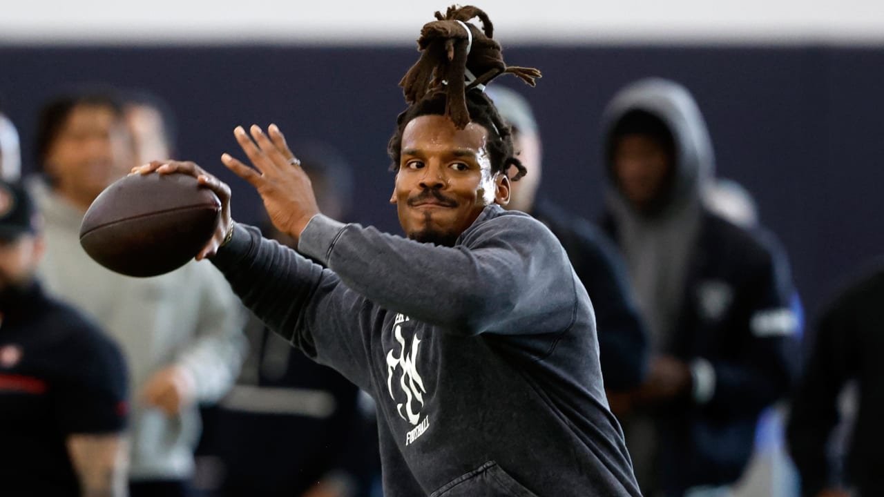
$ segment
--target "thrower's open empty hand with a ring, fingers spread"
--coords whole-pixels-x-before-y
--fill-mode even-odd
[[[249,131],[251,137],[238,126],[233,135],[255,167],[242,164],[230,154],[221,156],[221,162],[255,187],[273,226],[297,241],[310,218],[319,213],[313,185],[276,125],[267,128],[268,134],[255,125]]]

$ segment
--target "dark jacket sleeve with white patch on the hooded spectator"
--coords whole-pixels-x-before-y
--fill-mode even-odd
[[[739,289],[732,333],[740,353],[691,364],[694,398],[733,415],[754,415],[788,394],[798,372],[800,306],[785,256],[775,245],[758,247]]]

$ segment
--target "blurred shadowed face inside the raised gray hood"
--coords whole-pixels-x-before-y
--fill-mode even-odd
[[[617,184],[637,210],[647,210],[670,187],[673,168],[667,150],[651,136],[627,134],[618,139],[614,148]]]

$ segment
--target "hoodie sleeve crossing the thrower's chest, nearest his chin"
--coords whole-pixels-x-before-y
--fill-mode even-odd
[[[320,214],[299,249],[370,301],[450,333],[561,331],[574,319],[575,276],[564,249],[528,216],[480,218],[449,248]]]

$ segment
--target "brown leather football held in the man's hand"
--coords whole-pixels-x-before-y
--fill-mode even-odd
[[[187,174],[133,174],[104,189],[80,225],[80,245],[111,271],[156,276],[205,247],[221,202]]]

